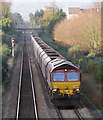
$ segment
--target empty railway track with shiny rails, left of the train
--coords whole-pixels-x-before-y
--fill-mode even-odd
[[[26,38],[25,38],[26,39]],[[35,88],[29,54],[24,41],[20,71],[19,91],[16,108],[16,119],[35,118],[38,120]]]

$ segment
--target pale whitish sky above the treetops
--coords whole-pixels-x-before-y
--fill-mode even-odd
[[[86,8],[92,2],[97,0],[10,0],[12,2],[11,11],[20,13],[25,20],[29,19],[29,13],[35,13],[36,10],[44,9],[44,6],[50,5],[51,2],[67,12],[68,7]],[[100,0],[98,0],[100,1]]]

